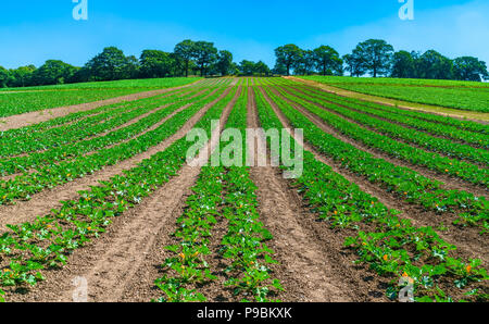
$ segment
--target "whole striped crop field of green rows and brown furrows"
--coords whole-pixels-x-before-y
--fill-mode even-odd
[[[153,91],[42,119],[9,115],[71,87],[18,111],[0,95],[0,299],[72,301],[82,281],[89,301],[488,301],[487,124],[287,78],[131,83]],[[202,166],[247,128],[287,130],[233,138],[234,161],[294,152],[303,172]]]

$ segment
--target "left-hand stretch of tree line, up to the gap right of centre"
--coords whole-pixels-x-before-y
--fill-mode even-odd
[[[262,61],[243,60],[240,63],[235,63],[231,52],[218,50],[213,42],[187,39],[177,43],[173,52],[143,50],[139,59],[134,55],[126,57],[116,47],[108,47],[83,67],[73,66],[60,60],[48,60],[39,67],[27,65],[7,70],[0,66],[0,87],[188,77],[190,74],[199,76],[268,76],[271,68]]]

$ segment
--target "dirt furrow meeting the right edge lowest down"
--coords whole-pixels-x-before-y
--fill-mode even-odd
[[[283,125],[286,128],[291,129],[292,126],[277,104],[266,96],[265,91],[263,92],[265,99],[271,103]],[[457,251],[454,253],[455,257],[480,259],[484,266],[488,267],[489,256],[487,253],[487,247],[489,244],[487,241],[487,235],[481,236],[476,227],[461,227],[453,225],[452,222],[456,216],[454,213],[436,213],[427,211],[422,205],[409,203],[396,194],[386,191],[380,185],[372,184],[367,178],[343,169],[341,163],[322,154],[310,144],[304,142],[304,149],[312,152],[316,160],[329,165],[334,172],[340,174],[350,183],[356,184],[362,191],[377,198],[387,208],[402,212],[402,214],[399,215],[400,217],[411,220],[416,226],[434,227],[440,237],[457,247]],[[440,225],[443,225],[442,227],[444,228],[440,228]]]

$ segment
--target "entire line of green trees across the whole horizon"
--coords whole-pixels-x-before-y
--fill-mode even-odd
[[[398,51],[387,41],[368,39],[351,53],[340,55],[330,46],[304,50],[293,43],[275,50],[276,65],[263,61],[235,63],[233,53],[213,42],[190,39],[177,43],[173,52],[143,50],[139,58],[126,57],[116,47],[104,48],[84,66],[60,60],[7,70],[0,66],[0,87],[43,86],[82,82],[133,78],[224,75],[371,75],[373,77],[475,80],[489,79],[485,62],[473,57],[451,60],[435,50],[424,53]]]

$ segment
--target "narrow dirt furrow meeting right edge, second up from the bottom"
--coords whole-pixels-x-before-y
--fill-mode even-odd
[[[471,184],[471,183],[467,183],[467,182],[465,182],[465,180],[463,180],[461,178],[456,178],[456,177],[453,177],[453,176],[450,176],[450,175],[440,174],[440,173],[438,173],[436,171],[432,171],[432,170],[429,170],[427,167],[424,167],[424,166],[421,166],[421,165],[415,165],[415,164],[412,164],[412,163],[410,163],[408,161],[404,161],[404,160],[401,160],[401,159],[398,159],[398,158],[393,158],[393,157],[391,157],[391,155],[387,154],[386,152],[383,152],[383,151],[380,151],[378,149],[371,148],[371,147],[368,147],[368,146],[366,146],[366,145],[364,145],[364,144],[362,144],[362,142],[360,142],[360,141],[358,141],[355,139],[352,139],[352,138],[348,137],[347,135],[343,135],[340,130],[329,126],[319,116],[317,116],[316,114],[310,112],[308,109],[303,108],[302,105],[298,104],[297,102],[291,101],[288,98],[281,96],[281,94],[279,94],[277,90],[272,88],[272,91],[274,91],[274,94],[276,94],[277,96],[280,96],[284,100],[287,100],[290,104],[292,104],[292,107],[294,109],[297,109],[299,112],[304,114],[311,122],[313,122],[317,127],[319,127],[325,133],[327,133],[329,135],[333,135],[336,138],[341,139],[342,141],[354,146],[359,150],[362,150],[362,151],[371,153],[376,159],[383,159],[383,160],[386,160],[387,162],[389,162],[389,163],[391,163],[393,165],[411,169],[411,170],[415,171],[416,173],[418,173],[418,174],[421,174],[421,175],[423,175],[425,177],[428,177],[428,178],[435,179],[437,182],[440,182],[442,189],[467,191],[467,192],[471,192],[471,194],[473,194],[475,196],[489,198],[489,192],[488,192],[488,188],[487,187],[478,186],[478,185],[475,185],[475,184]],[[323,108],[322,105],[318,105],[318,107]],[[325,109],[325,108],[323,108],[323,109]],[[327,109],[325,109],[325,110],[327,110]],[[329,110],[327,110],[327,111],[334,113],[335,115],[337,115],[339,117],[342,117],[342,119],[347,120],[348,122],[351,122],[351,123],[358,124],[359,126],[362,126],[359,123],[355,123],[354,121],[342,116],[341,114],[335,113],[334,111],[329,111]],[[363,127],[363,128],[365,128],[365,127]]]

